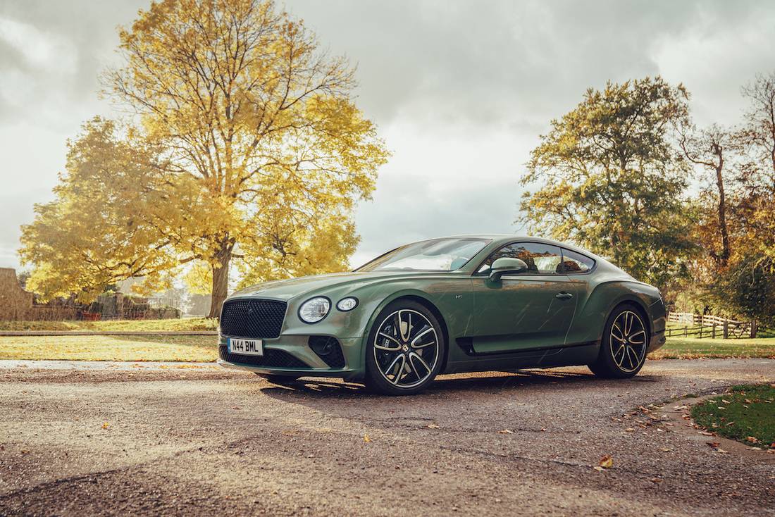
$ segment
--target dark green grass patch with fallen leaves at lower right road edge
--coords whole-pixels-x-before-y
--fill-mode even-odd
[[[691,417],[718,436],[775,448],[775,384],[733,386],[691,408]]]

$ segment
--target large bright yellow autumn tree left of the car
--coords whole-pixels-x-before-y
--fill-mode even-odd
[[[154,2],[119,36],[103,81],[127,127],[95,119],[70,143],[57,199],[23,229],[29,285],[91,298],[191,264],[218,315],[234,263],[245,281],[346,267],[353,205],[388,156],[350,64],[257,0]]]

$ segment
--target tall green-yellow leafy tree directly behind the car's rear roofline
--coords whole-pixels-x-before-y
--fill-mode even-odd
[[[660,77],[589,89],[532,150],[522,217],[666,288],[694,249],[684,202],[689,167],[675,128],[688,123],[683,86]]]

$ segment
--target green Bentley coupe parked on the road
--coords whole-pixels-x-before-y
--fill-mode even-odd
[[[588,365],[632,377],[665,342],[660,291],[552,240],[453,236],[353,272],[271,281],[223,304],[219,364],[387,394],[437,374]]]

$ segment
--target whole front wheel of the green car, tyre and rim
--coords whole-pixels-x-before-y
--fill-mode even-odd
[[[377,315],[366,346],[366,386],[384,395],[414,395],[439,374],[446,340],[439,320],[412,300]]]

